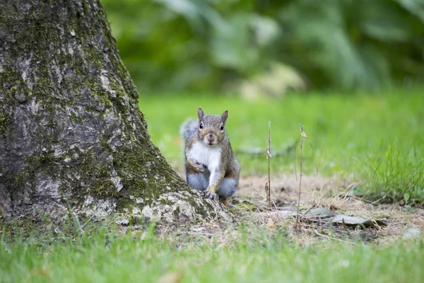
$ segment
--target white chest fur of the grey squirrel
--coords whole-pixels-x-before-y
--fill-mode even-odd
[[[208,170],[212,172],[213,169],[217,168],[219,165],[221,147],[207,146],[201,141],[196,141],[189,150],[188,155],[196,161],[199,161],[199,163],[208,166]]]

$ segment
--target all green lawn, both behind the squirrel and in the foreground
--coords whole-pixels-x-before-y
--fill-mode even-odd
[[[235,151],[266,148],[272,121],[273,175],[293,173],[298,123],[315,149],[320,174],[362,180],[360,190],[408,202],[423,202],[422,123],[424,91],[383,95],[293,95],[245,101],[226,96],[142,97],[153,142],[176,168],[182,168],[181,122],[196,108],[230,110],[228,134]],[[288,149],[288,150],[285,150]],[[284,151],[285,150],[285,151]],[[264,156],[237,154],[243,175],[266,172]],[[314,173],[312,151],[305,147],[305,171]],[[87,227],[85,228],[87,229]],[[237,226],[237,230],[243,230]],[[157,282],[182,272],[182,282],[424,282],[424,241],[401,241],[379,248],[311,238],[300,246],[289,229],[271,236],[261,226],[227,240],[217,235],[153,233],[119,236],[114,229],[88,233],[70,229],[45,238],[0,238],[0,282]],[[331,232],[331,231],[330,231]],[[6,233],[0,233],[6,237]],[[303,235],[305,236],[305,235]],[[229,237],[231,238],[231,237]],[[188,239],[191,239],[189,241]],[[293,241],[290,241],[293,239]],[[349,240],[351,241],[351,239]],[[319,243],[319,244],[318,244]]]

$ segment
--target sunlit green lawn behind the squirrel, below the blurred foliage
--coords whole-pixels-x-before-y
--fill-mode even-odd
[[[423,89],[384,93],[291,95],[281,99],[241,100],[231,96],[147,96],[140,108],[153,142],[175,168],[182,168],[179,125],[196,118],[199,106],[208,113],[228,109],[227,131],[235,151],[265,151],[271,120],[274,153],[272,172],[294,174],[293,147],[305,125],[314,146],[319,173],[353,178],[360,192],[374,192],[408,202],[424,202]],[[314,173],[310,146],[305,146],[304,171]],[[242,175],[265,173],[264,156],[237,154]],[[408,197],[409,196],[409,197]]]

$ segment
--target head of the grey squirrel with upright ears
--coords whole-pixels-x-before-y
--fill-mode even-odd
[[[220,144],[225,137],[225,121],[228,118],[228,110],[225,110],[223,115],[205,115],[203,109],[199,108],[197,115],[199,116],[197,137],[208,146]]]

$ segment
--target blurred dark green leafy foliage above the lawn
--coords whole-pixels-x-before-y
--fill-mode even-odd
[[[141,95],[424,81],[423,0],[102,0]]]

